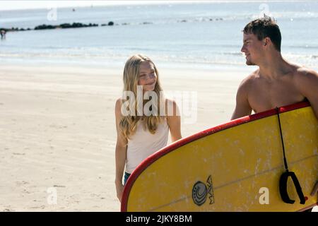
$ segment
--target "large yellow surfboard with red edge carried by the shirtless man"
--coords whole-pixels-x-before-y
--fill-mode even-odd
[[[280,120],[278,121],[278,117]],[[281,123],[281,129],[279,126]],[[285,203],[280,179],[289,177]],[[308,102],[201,131],[158,150],[129,177],[122,211],[298,211],[317,205],[318,122]]]

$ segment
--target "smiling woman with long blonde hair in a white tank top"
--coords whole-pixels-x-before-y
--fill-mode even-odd
[[[181,138],[177,104],[160,95],[163,89],[153,61],[140,54],[130,57],[124,66],[123,80],[124,95],[115,106],[115,184],[119,201],[122,201],[124,190],[123,175],[126,184],[130,174],[146,157],[167,145],[169,131],[172,142]]]

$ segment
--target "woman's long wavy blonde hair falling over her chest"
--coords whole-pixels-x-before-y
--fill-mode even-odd
[[[131,91],[134,93],[135,97],[137,97],[137,85],[139,81],[139,73],[140,73],[140,65],[142,62],[148,61],[153,64],[155,69],[155,74],[157,75],[157,82],[155,83],[154,92],[157,94],[157,97],[160,97],[160,91],[163,89],[161,88],[159,82],[159,74],[158,69],[156,68],[155,64],[149,57],[143,56],[141,54],[136,54],[134,56],[129,57],[126,61],[123,73],[123,81],[124,81],[124,91]],[[160,98],[159,98],[160,99]],[[162,101],[162,100],[161,100]],[[160,100],[158,100],[158,106],[160,106]],[[123,102],[122,102],[123,103]],[[144,103],[144,101],[143,101]],[[137,104],[134,103],[135,112],[137,112]],[[119,128],[122,131],[122,135],[129,139],[132,135],[136,132],[137,124],[140,120],[143,120],[143,129],[148,129],[148,131],[152,134],[155,133],[158,124],[161,121],[160,115],[150,115],[150,116],[137,116],[135,115],[127,115],[123,116],[119,122]]]

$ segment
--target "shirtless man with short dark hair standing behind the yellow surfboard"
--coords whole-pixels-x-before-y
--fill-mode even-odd
[[[247,76],[237,90],[232,119],[252,110],[264,112],[275,107],[308,100],[318,118],[318,73],[292,64],[281,56],[281,31],[275,20],[265,16],[249,22],[243,30],[247,65],[259,69]]]

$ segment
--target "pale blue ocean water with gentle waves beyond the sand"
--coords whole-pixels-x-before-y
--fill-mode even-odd
[[[61,23],[114,26],[8,32],[0,61],[123,66],[146,54],[171,67],[244,67],[242,29],[266,13],[276,18],[285,59],[317,69],[318,2],[210,2],[1,11],[0,28]],[[52,16],[53,15],[53,16]],[[56,20],[52,20],[56,19]],[[124,25],[126,24],[126,25]]]

